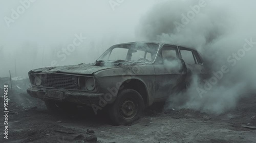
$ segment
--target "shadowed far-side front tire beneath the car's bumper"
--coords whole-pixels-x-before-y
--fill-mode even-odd
[[[67,113],[75,113],[77,111],[77,106],[72,103],[45,101],[45,104],[48,111],[52,113],[57,113],[61,110]]]

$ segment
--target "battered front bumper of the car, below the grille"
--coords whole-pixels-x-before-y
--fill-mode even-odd
[[[60,102],[72,102],[78,105],[91,106],[92,104],[98,103],[100,98],[104,96],[103,93],[90,93],[83,91],[69,91],[65,89],[45,89],[31,87],[27,89],[27,92],[31,97],[39,98],[41,100],[55,100]],[[56,92],[58,96],[50,96]]]

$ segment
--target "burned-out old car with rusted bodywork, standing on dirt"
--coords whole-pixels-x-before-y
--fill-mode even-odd
[[[107,109],[114,124],[137,120],[144,108],[186,89],[191,72],[204,74],[196,50],[179,45],[132,42],[111,46],[93,64],[29,71],[27,92],[50,111],[90,106]]]

